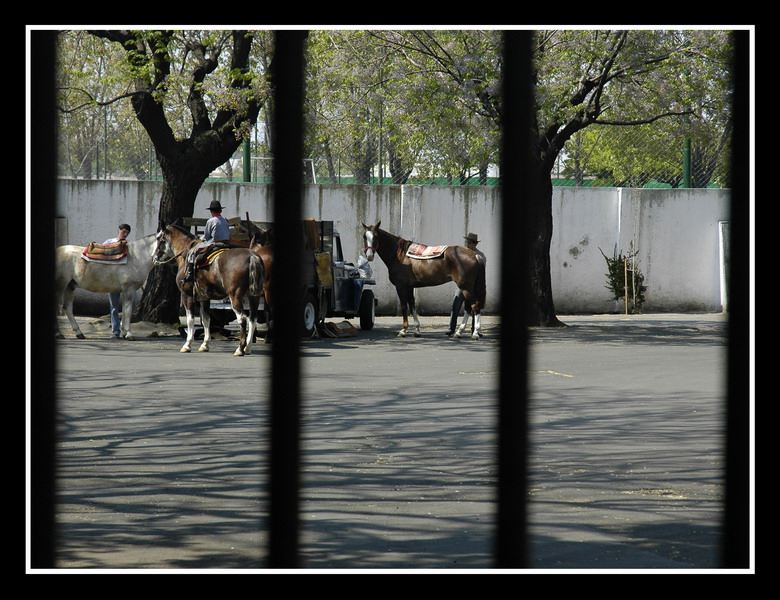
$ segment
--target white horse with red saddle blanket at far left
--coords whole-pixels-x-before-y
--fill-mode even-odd
[[[79,339],[84,334],[73,316],[73,296],[77,287],[90,292],[122,294],[122,329],[120,337],[135,339],[130,332],[133,296],[152,270],[155,235],[147,235],[127,244],[127,260],[122,263],[88,261],[82,256],[84,246],[60,246],[56,250],[55,292],[57,307],[65,310]],[[64,337],[57,326],[57,337]]]

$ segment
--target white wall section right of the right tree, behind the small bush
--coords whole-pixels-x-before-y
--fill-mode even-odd
[[[553,299],[558,312],[613,312],[607,265],[638,252],[646,312],[719,312],[719,222],[729,220],[729,190],[557,188],[553,194]]]

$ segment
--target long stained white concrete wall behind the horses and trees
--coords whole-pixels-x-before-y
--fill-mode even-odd
[[[61,180],[57,244],[102,242],[121,222],[132,238],[154,233],[161,185],[155,182]],[[269,186],[207,183],[194,216],[208,216],[219,200],[227,217],[272,221]],[[335,186],[305,189],[303,215],[332,220],[346,257],[362,250],[362,223],[425,244],[463,244],[468,232],[482,240],[488,260],[487,312],[499,310],[500,195],[496,188],[448,186]],[[617,244],[624,254],[633,241],[647,285],[645,311],[719,312],[719,223],[729,220],[728,190],[555,188],[550,250],[553,298],[558,314],[622,311],[605,288],[607,256]],[[397,299],[387,269],[373,264],[380,314],[394,314]],[[418,290],[422,314],[449,311],[455,284]]]

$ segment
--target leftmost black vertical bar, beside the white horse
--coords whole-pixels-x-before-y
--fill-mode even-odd
[[[31,31],[30,71],[30,227],[35,233],[32,249],[31,333],[33,340],[52,340],[30,350],[30,566],[55,565],[56,489],[55,394],[56,346],[53,343],[56,313],[52,302],[54,282],[54,206],[56,199],[57,121],[55,118],[55,58],[57,34]]]

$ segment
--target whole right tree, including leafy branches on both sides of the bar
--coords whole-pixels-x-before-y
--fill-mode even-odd
[[[379,31],[381,43],[396,49],[419,74],[497,133],[500,96],[499,31]],[[551,173],[565,144],[592,125],[630,126],[679,115],[695,115],[697,95],[724,80],[727,32],[539,31],[534,47],[535,110],[532,119],[532,191],[529,282],[535,303],[530,321],[561,325],[550,276],[553,233]],[[703,87],[704,86],[704,87]],[[722,91],[722,90],[721,90]]]

